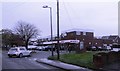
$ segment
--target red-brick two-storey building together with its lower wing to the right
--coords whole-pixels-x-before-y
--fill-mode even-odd
[[[84,49],[92,48],[93,46],[101,49],[112,49],[113,44],[118,44],[119,37],[116,35],[103,36],[95,38],[93,32],[85,31],[70,31],[61,34],[61,40],[79,40],[83,42]],[[80,47],[80,43],[79,43]]]

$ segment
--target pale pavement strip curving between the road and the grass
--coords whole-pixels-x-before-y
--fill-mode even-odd
[[[67,71],[92,71],[92,70],[87,69],[87,68],[63,63],[63,62],[60,62],[60,61],[48,60],[47,58],[37,59],[36,62],[48,64],[48,65],[51,65],[51,66],[54,66],[54,67],[57,67],[57,68],[61,68],[63,70],[67,70]]]

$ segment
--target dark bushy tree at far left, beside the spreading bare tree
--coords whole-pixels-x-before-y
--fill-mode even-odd
[[[2,47],[6,47],[9,49],[10,47],[15,46],[22,46],[23,45],[23,40],[22,38],[13,33],[12,30],[10,29],[2,29]],[[9,48],[8,48],[9,47]]]

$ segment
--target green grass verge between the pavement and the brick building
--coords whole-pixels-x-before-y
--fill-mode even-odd
[[[94,66],[93,66],[94,54],[95,52],[84,52],[80,54],[76,54],[76,53],[62,54],[60,55],[59,61],[85,67],[85,68],[94,69]],[[54,57],[50,56],[48,57],[48,59],[57,60],[57,56],[54,56]]]

